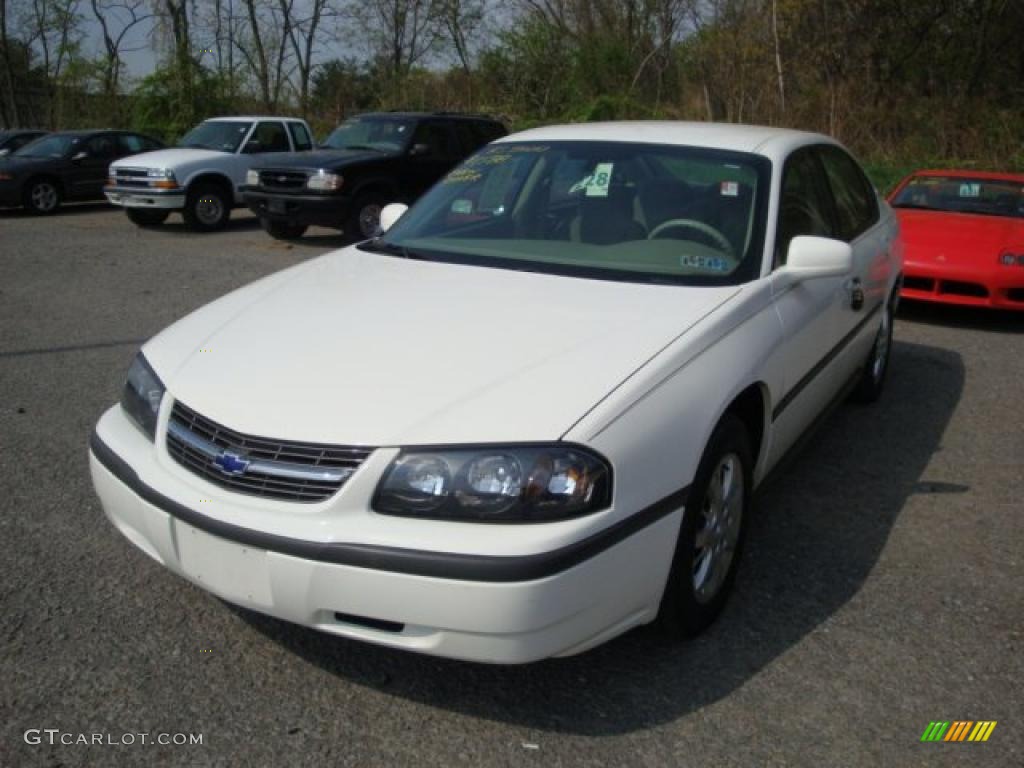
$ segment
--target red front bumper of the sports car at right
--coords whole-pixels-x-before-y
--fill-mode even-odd
[[[904,265],[900,296],[959,306],[1024,310],[1024,268],[993,264],[983,270],[908,262]]]

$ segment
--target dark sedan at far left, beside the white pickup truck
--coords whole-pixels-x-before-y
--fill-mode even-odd
[[[154,138],[127,131],[50,133],[0,158],[0,206],[43,214],[66,201],[102,200],[112,162],[162,147]]]

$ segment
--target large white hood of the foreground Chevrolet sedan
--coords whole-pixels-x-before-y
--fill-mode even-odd
[[[231,429],[399,445],[557,439],[737,294],[336,251],[143,348],[168,390]]]

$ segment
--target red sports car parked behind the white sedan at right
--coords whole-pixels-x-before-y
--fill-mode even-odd
[[[1024,310],[1024,174],[918,171],[889,196],[901,296]]]

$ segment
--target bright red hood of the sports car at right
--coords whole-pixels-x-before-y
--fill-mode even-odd
[[[1002,251],[1024,251],[1024,219],[905,208],[896,215],[910,265],[995,266]]]

